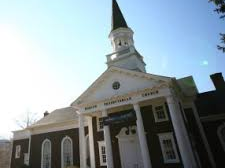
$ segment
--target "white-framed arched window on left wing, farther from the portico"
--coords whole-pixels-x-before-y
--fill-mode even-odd
[[[42,143],[41,168],[51,168],[51,141],[48,139]]]

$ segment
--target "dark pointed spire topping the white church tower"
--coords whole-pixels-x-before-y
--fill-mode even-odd
[[[123,17],[120,7],[116,0],[112,1],[112,31],[118,28],[128,28],[127,22]]]

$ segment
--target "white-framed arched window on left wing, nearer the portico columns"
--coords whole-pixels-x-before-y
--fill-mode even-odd
[[[63,138],[61,151],[62,168],[73,165],[73,141],[70,137]]]

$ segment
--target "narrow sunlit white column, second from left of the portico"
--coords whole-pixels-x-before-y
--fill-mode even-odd
[[[93,136],[93,125],[92,117],[87,117],[88,119],[88,134],[89,134],[89,148],[90,148],[90,163],[91,168],[95,168],[95,150],[94,150],[94,136]]]

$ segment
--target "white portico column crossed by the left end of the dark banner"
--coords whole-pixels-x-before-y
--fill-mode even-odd
[[[107,117],[107,111],[102,111],[102,116]],[[106,158],[107,158],[107,168],[114,168],[113,165],[113,153],[112,153],[112,143],[111,143],[111,136],[109,126],[104,126],[104,140],[106,146]]]

